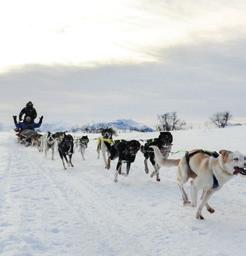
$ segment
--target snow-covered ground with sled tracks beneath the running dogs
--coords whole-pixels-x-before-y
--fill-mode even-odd
[[[120,134],[145,139],[156,133]],[[203,148],[246,153],[246,127],[173,133],[172,151]],[[92,138],[92,137],[91,137]],[[172,158],[183,155],[173,154]],[[183,207],[175,168],[162,168],[157,183],[138,154],[129,177],[114,183],[91,140],[86,160],[76,151],[73,169],[63,170],[35,148],[0,133],[0,255],[245,255],[246,179],[237,176],[215,193],[204,210]]]

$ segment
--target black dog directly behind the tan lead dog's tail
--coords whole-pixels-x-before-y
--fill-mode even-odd
[[[156,181],[160,181],[160,177],[159,177],[160,166],[158,166],[158,164],[156,163],[155,154],[151,146],[157,146],[160,149],[163,158],[166,159],[168,158],[169,153],[171,151],[172,142],[173,142],[173,136],[170,132],[160,132],[160,135],[158,138],[149,139],[144,144],[144,146],[141,146],[141,151],[144,154],[144,158],[145,158],[144,159],[145,172],[147,174],[149,173],[149,168],[148,168],[148,159],[149,159],[155,169],[151,173],[151,178],[156,175]]]

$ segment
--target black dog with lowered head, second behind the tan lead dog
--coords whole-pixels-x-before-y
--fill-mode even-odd
[[[108,145],[107,145],[108,146]],[[135,161],[138,150],[140,149],[140,143],[137,140],[121,140],[115,141],[112,146],[108,146],[109,158],[107,169],[110,168],[111,160],[118,158],[118,163],[115,172],[115,182],[118,182],[118,175],[121,173],[122,163],[126,163],[126,175],[129,174],[131,164]]]

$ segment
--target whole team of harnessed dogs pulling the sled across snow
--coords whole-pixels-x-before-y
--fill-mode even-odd
[[[145,172],[149,173],[148,159],[154,167],[151,177],[160,181],[160,167],[177,167],[177,183],[181,191],[183,204],[197,206],[198,192],[202,190],[201,202],[197,208],[196,218],[204,219],[202,210],[204,206],[210,213],[215,210],[208,204],[208,200],[214,192],[220,190],[223,185],[237,174],[246,175],[246,156],[238,151],[220,150],[217,152],[194,149],[187,151],[181,159],[168,159],[173,138],[170,132],[161,132],[158,138],[147,140],[141,145],[137,140],[113,141],[113,129],[103,129],[101,137],[97,141],[97,153],[103,157],[105,168],[110,169],[111,161],[118,159],[114,181],[118,181],[119,175],[127,176],[131,164],[135,161],[136,154],[140,150],[144,155]],[[89,143],[87,136],[74,139],[66,132],[48,133],[32,138],[32,145],[37,146],[45,155],[51,151],[54,159],[55,147],[57,147],[64,169],[73,167],[72,155],[74,143],[85,159],[85,151]],[[122,164],[126,163],[126,172],[122,172]],[[66,166],[67,165],[67,166]],[[184,184],[190,181],[191,201],[184,189]]]

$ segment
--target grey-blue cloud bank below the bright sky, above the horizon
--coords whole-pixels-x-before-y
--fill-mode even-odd
[[[163,62],[155,64],[27,66],[0,76],[4,120],[28,100],[48,121],[72,123],[125,117],[150,124],[169,111],[184,119],[224,110],[245,116],[245,43],[242,37],[159,50]]]

